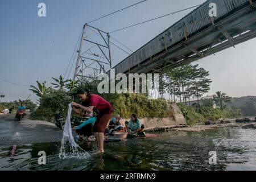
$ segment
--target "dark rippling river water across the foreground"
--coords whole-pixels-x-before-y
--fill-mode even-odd
[[[87,160],[60,159],[60,142],[2,147],[0,170],[256,170],[255,129],[158,134],[154,138],[105,143],[104,155],[92,155]],[[89,153],[96,150],[94,142],[79,144]],[[45,165],[38,164],[39,151],[46,152]],[[209,164],[210,151],[216,152],[216,164]]]

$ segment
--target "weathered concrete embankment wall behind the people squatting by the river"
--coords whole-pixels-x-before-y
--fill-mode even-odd
[[[168,117],[168,118],[139,118],[141,119],[142,124],[144,124],[145,129],[152,129],[155,127],[164,127],[164,126],[171,126],[171,125],[185,125],[186,121],[181,113],[179,107],[177,107],[174,103],[168,102],[168,107],[174,111],[174,117]],[[125,125],[125,121],[129,121],[130,118],[122,118],[122,125]]]

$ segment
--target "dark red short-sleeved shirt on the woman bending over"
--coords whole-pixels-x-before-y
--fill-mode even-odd
[[[88,100],[82,102],[85,107],[94,106],[100,113],[110,114],[113,112],[112,105],[101,96],[90,94]]]

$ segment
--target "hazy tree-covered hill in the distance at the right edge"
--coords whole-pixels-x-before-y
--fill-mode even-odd
[[[229,106],[243,111],[243,116],[256,116],[256,96],[233,97]]]

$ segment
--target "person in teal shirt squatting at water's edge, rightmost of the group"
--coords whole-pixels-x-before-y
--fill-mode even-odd
[[[141,120],[137,117],[136,114],[131,114],[131,119],[127,125],[128,133],[131,135],[137,134],[141,137],[144,137],[144,125],[141,124]]]

